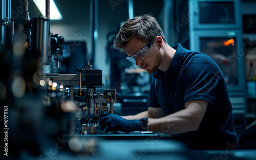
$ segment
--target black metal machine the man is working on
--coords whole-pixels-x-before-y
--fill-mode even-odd
[[[103,94],[96,92],[96,88],[102,87],[102,70],[93,69],[89,62],[85,69],[75,70],[78,74],[45,72],[43,68],[52,64],[52,57],[55,60],[55,68],[61,68],[64,38],[50,32],[49,1],[46,1],[47,16],[38,16],[31,20],[28,1],[24,0],[23,6],[27,52],[28,56],[34,55],[40,60],[36,66],[36,85],[39,86],[38,91],[47,99],[44,104],[51,106],[48,112],[60,115],[65,112],[76,113],[72,114],[71,118],[63,118],[67,124],[71,121],[76,123],[63,127],[66,128],[63,129],[63,134],[96,134],[97,124],[103,114],[114,113],[113,103],[117,102],[117,91],[105,90]],[[71,108],[69,104],[72,104]]]

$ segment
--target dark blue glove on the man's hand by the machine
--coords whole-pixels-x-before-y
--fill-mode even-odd
[[[140,120],[126,120],[118,115],[110,114],[101,118],[99,125],[100,129],[105,132],[120,130],[123,132],[140,131]]]

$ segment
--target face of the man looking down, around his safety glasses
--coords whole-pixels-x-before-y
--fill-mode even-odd
[[[154,73],[162,62],[162,56],[159,49],[155,46],[155,41],[152,42],[151,50],[149,54],[142,59],[135,59],[136,65],[140,68],[146,70],[148,73]],[[140,41],[136,37],[131,38],[131,40],[123,47],[128,56],[133,56],[141,48],[143,48],[147,42]]]

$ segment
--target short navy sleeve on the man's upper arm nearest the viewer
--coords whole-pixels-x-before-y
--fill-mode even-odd
[[[202,99],[214,105],[222,77],[219,67],[207,60],[197,60],[187,65],[183,74],[184,103]]]

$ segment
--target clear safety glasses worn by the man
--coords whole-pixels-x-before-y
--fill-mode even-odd
[[[161,32],[157,35],[159,36],[161,34]],[[126,60],[132,62],[132,63],[136,63],[135,59],[138,60],[144,60],[151,51],[151,43],[156,39],[157,37],[155,37],[150,43],[147,43],[147,45],[145,45],[143,48],[141,48],[139,51],[137,51],[133,56],[128,56],[126,58]]]

